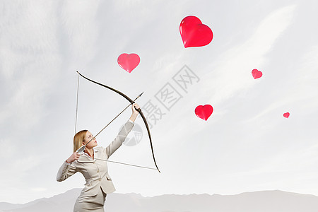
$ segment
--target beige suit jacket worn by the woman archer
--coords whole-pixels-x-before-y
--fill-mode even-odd
[[[110,158],[110,155],[122,146],[122,142],[124,142],[133,126],[134,123],[126,122],[107,148],[95,147],[94,158],[103,160]],[[100,187],[106,194],[112,193],[115,191],[114,184],[112,184],[112,179],[108,175],[107,162],[103,160],[93,160],[88,155],[82,154],[78,160],[71,164],[64,162],[59,168],[59,172],[57,172],[57,181],[64,181],[76,172],[81,172],[86,179],[81,195],[95,196],[98,194]]]

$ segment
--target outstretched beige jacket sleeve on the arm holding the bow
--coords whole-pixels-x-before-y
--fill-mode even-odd
[[[126,136],[129,134],[133,126],[133,122],[126,122],[126,124],[124,124],[122,129],[119,131],[119,134],[116,136],[114,141],[112,141],[112,143],[110,143],[109,146],[104,148],[107,158],[110,158],[110,155],[112,155],[112,153],[114,153],[114,151],[116,151],[117,148],[122,146],[122,143],[125,141]]]

